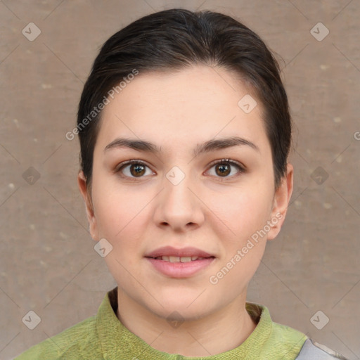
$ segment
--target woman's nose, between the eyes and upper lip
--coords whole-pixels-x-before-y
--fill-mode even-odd
[[[175,169],[167,174],[162,186],[163,190],[156,198],[155,224],[177,232],[197,229],[203,224],[205,205],[190,176],[181,175],[179,169],[177,172]]]

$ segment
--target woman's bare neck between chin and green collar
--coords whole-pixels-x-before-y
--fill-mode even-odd
[[[245,296],[202,319],[173,323],[174,327],[119,288],[117,296],[117,318],[122,324],[154,349],[168,354],[221,354],[241,345],[257,325],[245,309]]]

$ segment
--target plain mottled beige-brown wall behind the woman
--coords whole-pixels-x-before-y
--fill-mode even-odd
[[[96,314],[116,285],[87,232],[79,146],[65,133],[103,41],[173,7],[234,15],[283,58],[295,190],[248,300],[359,359],[360,3],[349,0],[0,1],[0,358]],[[319,22],[330,31],[322,41],[311,34]],[[22,34],[28,23],[41,30],[34,41]],[[41,318],[34,330],[22,321],[30,310]],[[310,321],[319,310],[330,319],[322,330]]]

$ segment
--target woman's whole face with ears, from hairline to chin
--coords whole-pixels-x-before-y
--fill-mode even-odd
[[[140,72],[103,110],[91,234],[113,246],[105,261],[124,296],[153,314],[193,319],[245,301],[280,231],[292,171],[274,191],[261,105],[246,95],[231,72],[196,65]],[[79,185],[86,198],[82,174]]]

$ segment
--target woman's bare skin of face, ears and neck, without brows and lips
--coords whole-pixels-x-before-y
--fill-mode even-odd
[[[251,94],[257,106],[246,114],[240,98]],[[105,147],[118,137],[161,147],[157,154]],[[193,148],[210,139],[240,136],[255,143],[202,153]],[[240,162],[222,175],[214,160]],[[146,162],[136,177],[126,160]],[[136,166],[136,165],[135,165]],[[166,174],[179,167],[185,178],[172,184]],[[228,164],[229,166],[229,164]],[[121,176],[122,175],[122,176]],[[224,68],[194,65],[179,72],[143,73],[105,106],[94,148],[91,188],[79,172],[91,236],[113,250],[105,262],[118,284],[117,317],[155,349],[184,356],[209,356],[238,347],[255,329],[245,310],[248,283],[285,219],[293,191],[293,167],[275,189],[271,147],[262,105],[245,82]],[[210,276],[226,266],[266,221],[266,236],[217,284]],[[192,246],[216,258],[189,278],[158,272],[144,255],[165,245]],[[177,311],[177,328],[167,318]]]

